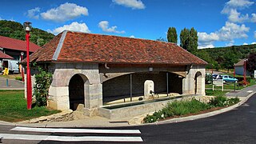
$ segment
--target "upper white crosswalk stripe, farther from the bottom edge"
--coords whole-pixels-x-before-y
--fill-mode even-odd
[[[140,130],[97,130],[97,129],[62,129],[62,128],[35,128],[17,126],[11,130],[48,132],[48,133],[98,133],[98,134],[141,134]]]

